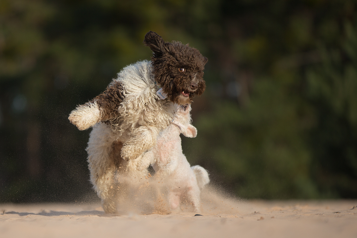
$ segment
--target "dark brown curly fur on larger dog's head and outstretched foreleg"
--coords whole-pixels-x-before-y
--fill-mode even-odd
[[[151,61],[155,80],[170,101],[180,105],[187,104],[194,96],[205,91],[206,84],[202,77],[207,58],[200,51],[181,42],[165,42],[152,31],[145,35],[144,44],[153,51]],[[96,101],[101,112],[101,121],[107,125],[117,125],[118,107],[125,98],[123,92],[123,85],[113,81],[104,92],[85,105]]]

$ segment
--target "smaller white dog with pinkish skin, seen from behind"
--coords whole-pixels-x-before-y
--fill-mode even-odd
[[[200,193],[205,184],[210,182],[206,169],[199,165],[190,167],[186,156],[182,153],[180,132],[186,137],[196,137],[197,129],[191,125],[191,106],[186,110],[178,106],[174,120],[183,124],[184,128],[171,124],[159,134],[156,146],[137,159],[135,164],[130,164],[129,169],[142,171],[151,164],[155,169],[155,178],[163,181],[168,189],[168,202],[171,210],[180,205],[180,198],[187,194],[188,200],[195,208],[200,210]]]

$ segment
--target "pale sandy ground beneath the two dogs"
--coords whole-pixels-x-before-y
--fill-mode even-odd
[[[208,195],[207,195],[208,194]],[[0,237],[357,237],[357,201],[240,201],[206,192],[185,209],[107,216],[99,203],[0,204]]]

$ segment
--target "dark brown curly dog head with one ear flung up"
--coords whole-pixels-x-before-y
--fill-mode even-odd
[[[165,42],[152,31],[145,35],[144,44],[153,51],[155,80],[172,102],[190,103],[205,91],[203,69],[208,60],[200,51],[181,42]]]

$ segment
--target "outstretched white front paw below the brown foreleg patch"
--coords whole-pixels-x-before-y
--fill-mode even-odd
[[[97,103],[78,106],[68,117],[69,121],[81,131],[100,122],[100,118],[101,112]]]

